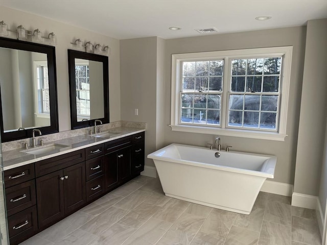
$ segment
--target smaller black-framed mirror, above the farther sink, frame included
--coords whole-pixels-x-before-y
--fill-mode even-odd
[[[109,122],[108,57],[68,50],[72,129]]]

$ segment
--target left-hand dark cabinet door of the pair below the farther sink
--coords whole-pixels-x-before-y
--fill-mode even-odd
[[[113,189],[118,184],[117,152],[105,155],[105,191]]]

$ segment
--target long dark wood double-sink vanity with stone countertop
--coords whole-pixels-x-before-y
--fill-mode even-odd
[[[56,153],[4,152],[10,244],[57,223],[144,170],[145,130],[121,131],[58,140],[68,147]]]

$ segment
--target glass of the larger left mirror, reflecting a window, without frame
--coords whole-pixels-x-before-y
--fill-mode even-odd
[[[4,132],[50,126],[46,54],[0,47]]]

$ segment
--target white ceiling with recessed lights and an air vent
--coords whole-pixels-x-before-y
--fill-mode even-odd
[[[210,35],[194,30],[207,28],[230,33],[303,26],[327,18],[327,0],[0,0],[1,6],[117,39]],[[257,16],[272,18],[258,21]]]

